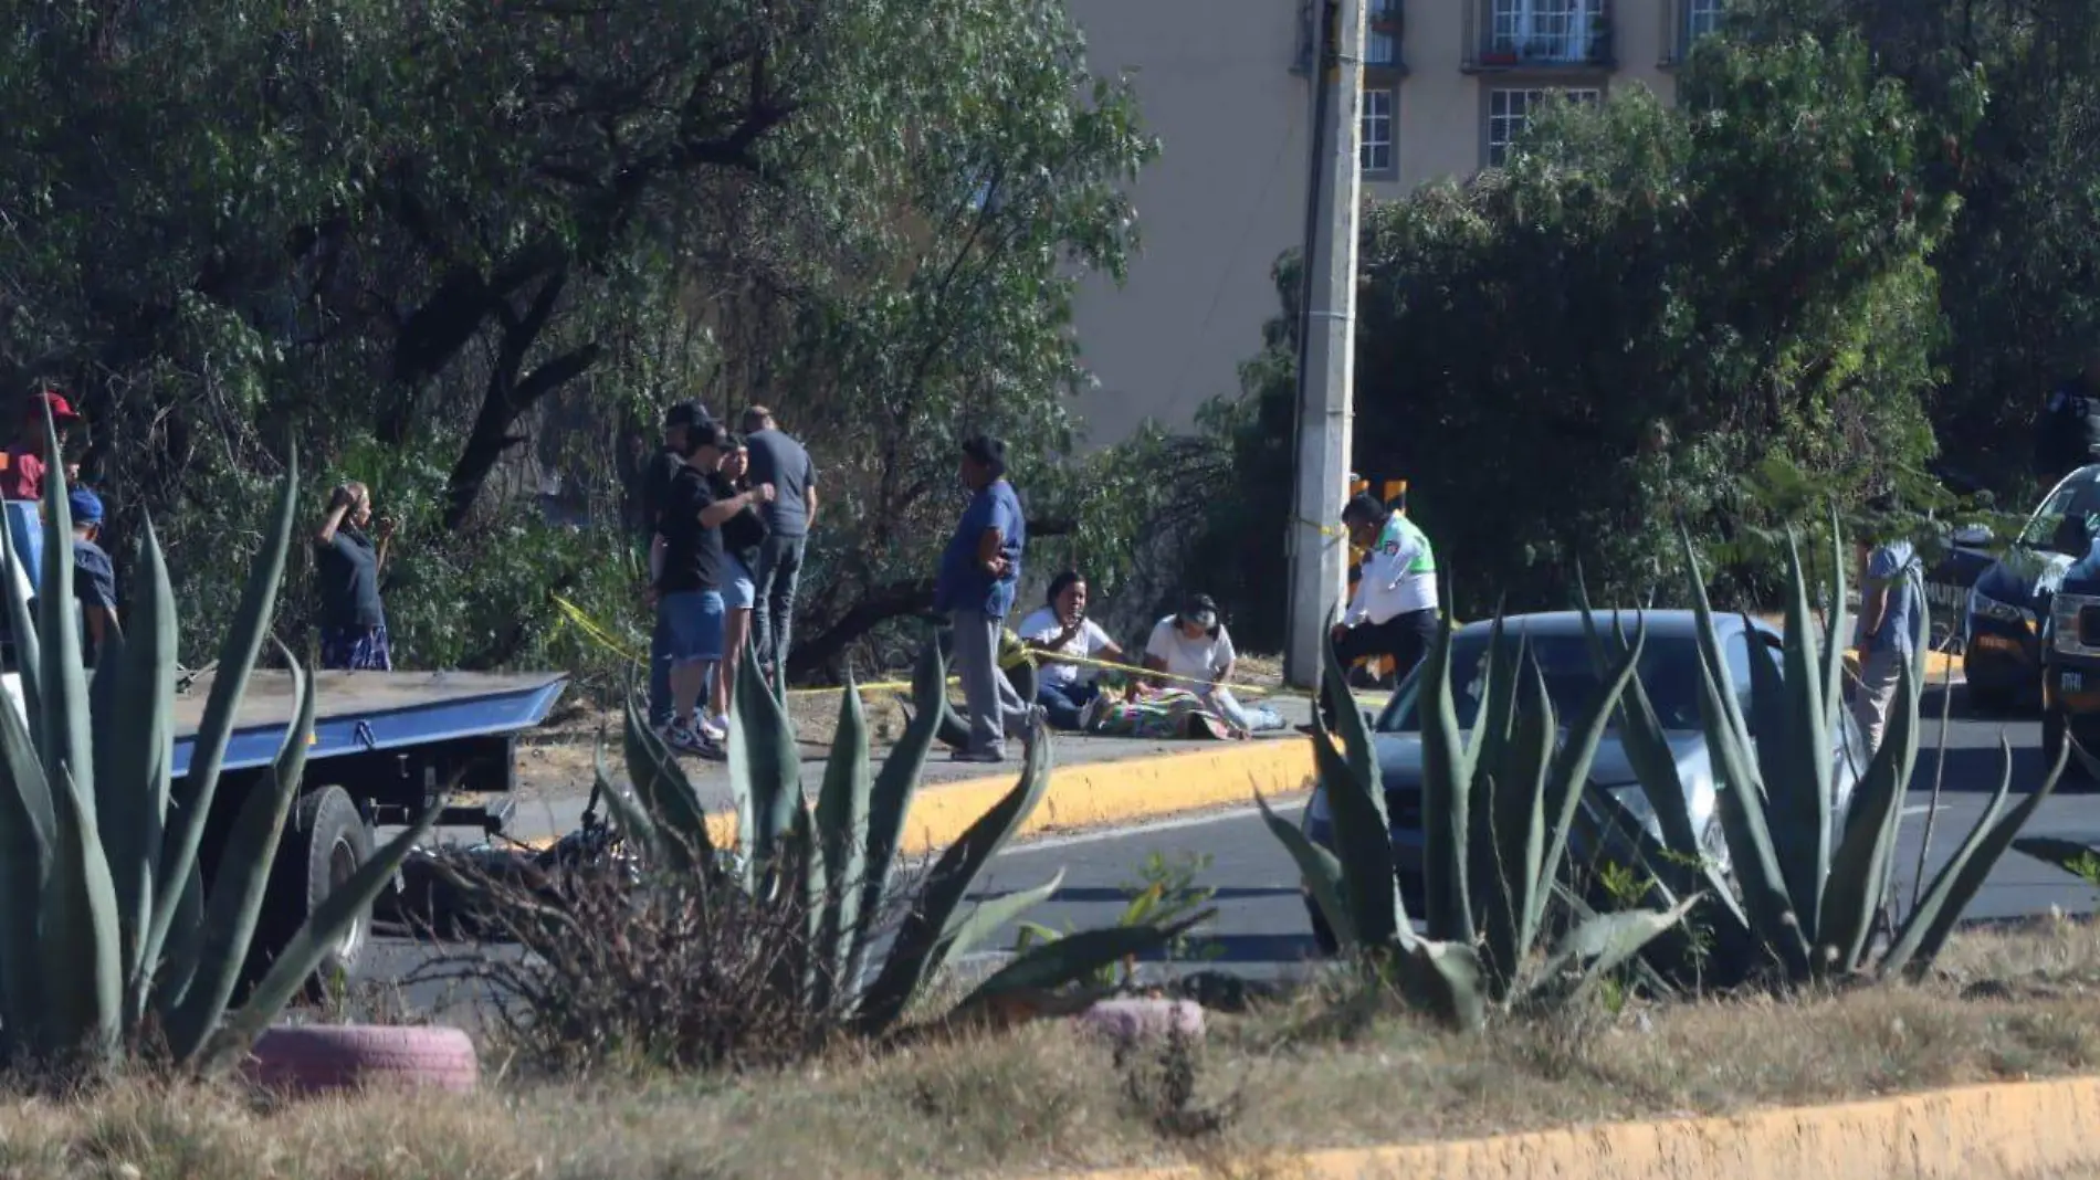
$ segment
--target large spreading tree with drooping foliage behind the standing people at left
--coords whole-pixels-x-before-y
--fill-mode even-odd
[[[764,401],[817,456],[798,668],[924,605],[964,430],[1025,441],[1031,514],[1105,580],[1130,563],[1060,395],[1073,290],[1121,273],[1155,145],[1056,0],[25,21],[0,384],[84,407],[111,533],[162,523],[185,651],[231,615],[281,433],[403,517],[388,615],[424,666],[565,655],[550,590],[638,630],[638,588],[601,584],[632,540],[607,472],[672,397]],[[556,479],[584,535],[536,521]]]

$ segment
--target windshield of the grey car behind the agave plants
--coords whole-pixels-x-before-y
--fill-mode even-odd
[[[1588,710],[1602,691],[1602,678],[1592,659],[1590,640],[1583,634],[1529,636],[1525,649],[1546,676],[1546,695],[1554,703],[1554,716],[1567,724]],[[1728,663],[1728,680],[1745,714],[1749,703],[1749,640],[1741,630],[1722,638]],[[1460,634],[1451,640],[1451,703],[1457,705],[1460,729],[1472,729],[1480,712],[1480,693],[1487,672],[1487,632]],[[1634,672],[1640,687],[1655,705],[1655,718],[1663,729],[1697,731],[1703,724],[1699,714],[1699,645],[1690,634],[1651,634],[1640,649],[1640,666]],[[1745,716],[1747,720],[1747,716]],[[1418,733],[1422,714],[1415,708],[1413,678],[1405,691],[1394,693],[1386,714],[1378,718],[1384,733]]]

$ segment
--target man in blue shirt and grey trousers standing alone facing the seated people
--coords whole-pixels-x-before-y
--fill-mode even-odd
[[[1006,483],[1006,443],[985,435],[964,439],[962,485],[972,493],[970,506],[941,554],[932,596],[934,611],[956,626],[956,672],[970,710],[970,745],[956,752],[956,762],[1004,762],[1006,739],[1027,735],[1035,712],[998,666],[1027,544],[1021,498]]]

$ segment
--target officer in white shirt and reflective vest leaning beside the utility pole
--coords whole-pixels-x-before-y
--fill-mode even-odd
[[[1363,657],[1392,659],[1405,678],[1436,640],[1443,615],[1436,605],[1436,552],[1428,535],[1407,519],[1407,504],[1386,508],[1359,491],[1342,508],[1342,527],[1357,548],[1367,550],[1357,596],[1334,628],[1334,653],[1346,670]],[[1334,724],[1334,708],[1321,695],[1321,716]]]

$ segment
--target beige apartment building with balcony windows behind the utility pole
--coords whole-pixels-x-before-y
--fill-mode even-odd
[[[1363,193],[1396,197],[1504,160],[1560,90],[1602,101],[1674,69],[1724,0],[1369,0]],[[1144,420],[1189,428],[1277,315],[1275,260],[1304,237],[1317,0],[1069,0],[1096,73],[1128,76],[1161,157],[1140,176],[1142,250],[1090,279],[1075,330],[1092,445]]]

